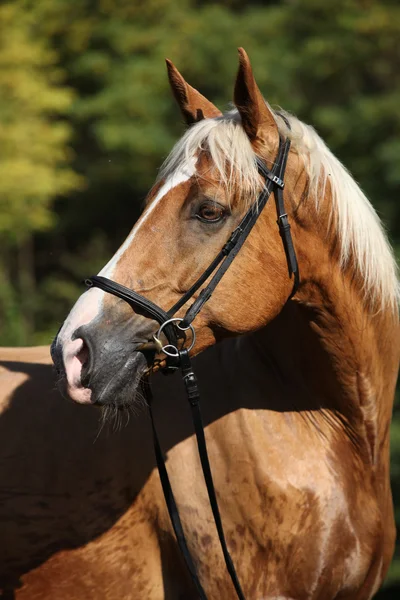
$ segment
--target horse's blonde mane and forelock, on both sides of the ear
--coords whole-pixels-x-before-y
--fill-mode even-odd
[[[324,196],[329,181],[330,226],[336,225],[341,266],[346,268],[353,259],[364,281],[367,303],[397,311],[400,297],[397,266],[371,203],[312,127],[284,111],[273,114],[280,133],[291,139],[292,150],[304,162],[309,176],[309,197],[317,210],[318,199]],[[256,155],[236,109],[190,127],[161,167],[159,179],[173,176],[184,164],[193,165],[201,150],[209,152],[221,185],[230,191],[239,184],[243,197],[248,202],[255,201],[260,191]],[[273,161],[268,166],[272,165]]]

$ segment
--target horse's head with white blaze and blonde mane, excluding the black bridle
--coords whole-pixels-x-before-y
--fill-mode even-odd
[[[170,61],[167,68],[188,129],[161,168],[142,216],[99,275],[164,311],[179,305],[249,208],[258,210],[265,185],[258,161],[273,171],[282,140],[290,139],[285,209],[302,274],[295,301],[318,305],[330,294],[327,289],[336,290],[337,297],[338,288],[350,286],[360,296],[367,289],[375,308],[379,302],[394,305],[394,263],[368,201],[312,128],[270,108],[244,50],[239,50],[236,108],[225,114]],[[346,207],[343,191],[351,197]],[[290,298],[293,277],[276,219],[270,202],[196,316],[192,354],[263,328]],[[363,240],[366,230],[372,233]],[[200,292],[201,287],[175,316],[183,318]],[[153,360],[144,348],[158,329],[146,312],[121,298],[99,288],[86,291],[53,343],[69,396],[103,405],[132,402]]]

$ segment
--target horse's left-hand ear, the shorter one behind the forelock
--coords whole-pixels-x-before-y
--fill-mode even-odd
[[[212,102],[186,83],[178,69],[168,58],[166,63],[172,92],[187,125],[197,123],[202,119],[212,119],[222,115],[221,111]]]

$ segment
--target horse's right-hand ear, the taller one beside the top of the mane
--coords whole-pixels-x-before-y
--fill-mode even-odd
[[[274,116],[266,104],[254,79],[250,59],[243,48],[239,52],[239,70],[236,77],[234,103],[242,118],[242,125],[250,140],[261,136],[264,127],[277,130]]]

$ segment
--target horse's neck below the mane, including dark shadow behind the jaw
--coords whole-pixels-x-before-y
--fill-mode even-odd
[[[378,442],[388,446],[400,355],[397,314],[366,306],[350,265],[343,271],[319,232],[297,234],[302,287],[253,343],[260,356],[270,353],[283,378],[308,390],[306,408],[334,413],[376,462]]]

